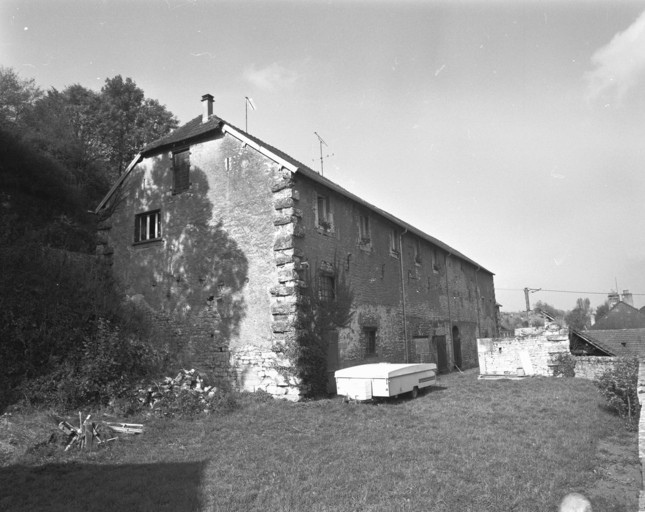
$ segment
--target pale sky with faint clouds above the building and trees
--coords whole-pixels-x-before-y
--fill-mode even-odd
[[[645,306],[645,1],[2,0],[0,65],[132,78],[495,273],[502,311]]]

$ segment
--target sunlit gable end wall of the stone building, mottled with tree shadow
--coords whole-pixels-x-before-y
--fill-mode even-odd
[[[104,211],[97,253],[126,295],[167,327],[180,361],[240,389],[289,395],[271,379],[297,285],[297,211],[281,185],[289,173],[232,135],[189,151],[181,193],[170,151],[134,167]],[[136,242],[135,216],[150,211],[160,212],[161,237]]]

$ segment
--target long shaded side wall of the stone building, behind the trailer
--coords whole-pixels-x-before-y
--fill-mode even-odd
[[[355,314],[338,336],[340,367],[437,363],[438,339],[445,345],[446,369],[477,366],[477,337],[497,334],[490,273],[308,176],[297,173],[294,188],[302,213],[296,247],[309,266],[307,279],[335,264],[335,276],[342,274],[354,293]],[[328,229],[316,225],[318,196],[329,200],[333,222]],[[368,218],[367,234],[361,218]],[[368,331],[376,333],[372,354]],[[458,354],[453,333],[460,340]]]

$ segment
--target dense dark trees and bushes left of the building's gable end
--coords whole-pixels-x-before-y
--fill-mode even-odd
[[[129,78],[43,92],[0,68],[0,408],[105,403],[166,363],[145,315],[90,256],[89,211],[176,125]]]

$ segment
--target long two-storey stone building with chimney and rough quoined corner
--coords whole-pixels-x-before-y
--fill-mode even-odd
[[[328,371],[477,366],[497,336],[493,274],[276,148],[203,113],[148,145],[97,207],[98,253],[186,361],[241,389],[297,396],[276,371],[308,283],[353,292]]]

